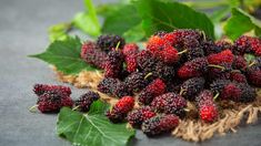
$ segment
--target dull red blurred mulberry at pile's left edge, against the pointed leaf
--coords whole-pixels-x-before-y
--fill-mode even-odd
[[[93,42],[86,42],[81,46],[81,59],[87,63],[104,69],[107,53],[97,48]]]

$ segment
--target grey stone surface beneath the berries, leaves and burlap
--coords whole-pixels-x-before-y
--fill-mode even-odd
[[[56,115],[28,112],[36,103],[31,92],[34,83],[61,83],[46,63],[27,55],[47,48],[48,27],[70,20],[82,9],[81,1],[76,0],[0,0],[0,146],[70,145],[56,135]],[[82,92],[73,87],[72,96]],[[260,146],[261,122],[200,144],[169,136],[147,138],[138,132],[130,145]]]

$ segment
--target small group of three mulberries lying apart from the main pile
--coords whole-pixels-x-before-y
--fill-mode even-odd
[[[70,97],[71,88],[61,85],[36,84],[33,92],[38,96],[36,106],[41,113],[58,113],[61,107],[72,107],[73,105],[76,106],[74,109],[88,112],[91,104],[100,98],[98,93],[88,91],[77,101],[72,101]]]

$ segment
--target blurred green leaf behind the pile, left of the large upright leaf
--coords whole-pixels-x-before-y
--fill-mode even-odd
[[[140,22],[141,18],[132,4],[119,6],[106,15],[102,32],[122,35]]]

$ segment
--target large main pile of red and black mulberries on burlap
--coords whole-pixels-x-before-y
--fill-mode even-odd
[[[91,48],[92,56],[86,56]],[[88,53],[88,55],[91,55]],[[247,62],[245,53],[255,55]],[[97,56],[104,55],[103,59]],[[110,121],[128,121],[152,136],[173,129],[194,103],[207,123],[219,119],[218,102],[249,103],[261,86],[261,40],[241,36],[234,43],[214,42],[200,30],[155,32],[140,50],[118,35],[101,35],[82,45],[82,58],[104,69],[98,91],[119,97],[107,113]],[[139,108],[133,109],[134,98]]]

